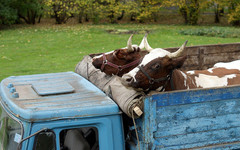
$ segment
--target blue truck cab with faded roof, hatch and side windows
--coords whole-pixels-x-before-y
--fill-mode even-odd
[[[74,72],[11,76],[0,95],[0,149],[125,149],[119,107]]]

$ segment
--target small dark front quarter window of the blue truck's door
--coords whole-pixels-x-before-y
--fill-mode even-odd
[[[52,131],[41,132],[35,137],[34,150],[56,150],[56,138]]]

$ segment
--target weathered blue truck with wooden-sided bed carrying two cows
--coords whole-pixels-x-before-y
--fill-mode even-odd
[[[240,44],[232,45],[239,53]],[[216,45],[188,48],[202,55]],[[74,72],[11,76],[0,84],[0,149],[240,149],[240,86],[163,92],[143,102],[132,121]]]

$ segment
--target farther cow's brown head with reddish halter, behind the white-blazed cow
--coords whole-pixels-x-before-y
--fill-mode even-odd
[[[127,47],[93,57],[93,66],[101,69],[107,75],[118,75],[120,77],[135,68],[148,51],[143,51],[145,37],[139,46],[132,45],[132,37],[133,35],[129,37]]]

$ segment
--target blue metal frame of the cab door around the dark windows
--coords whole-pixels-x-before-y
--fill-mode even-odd
[[[32,133],[42,128],[48,128],[55,132],[56,137],[60,137],[60,132],[64,129],[96,127],[99,133],[99,149],[100,150],[124,150],[124,136],[122,120],[120,115],[99,116],[81,119],[55,120],[48,122],[33,123]],[[34,138],[29,139],[31,143],[28,147],[33,150]],[[60,141],[56,141],[56,145],[60,146]],[[60,150],[60,149],[58,149]]]

